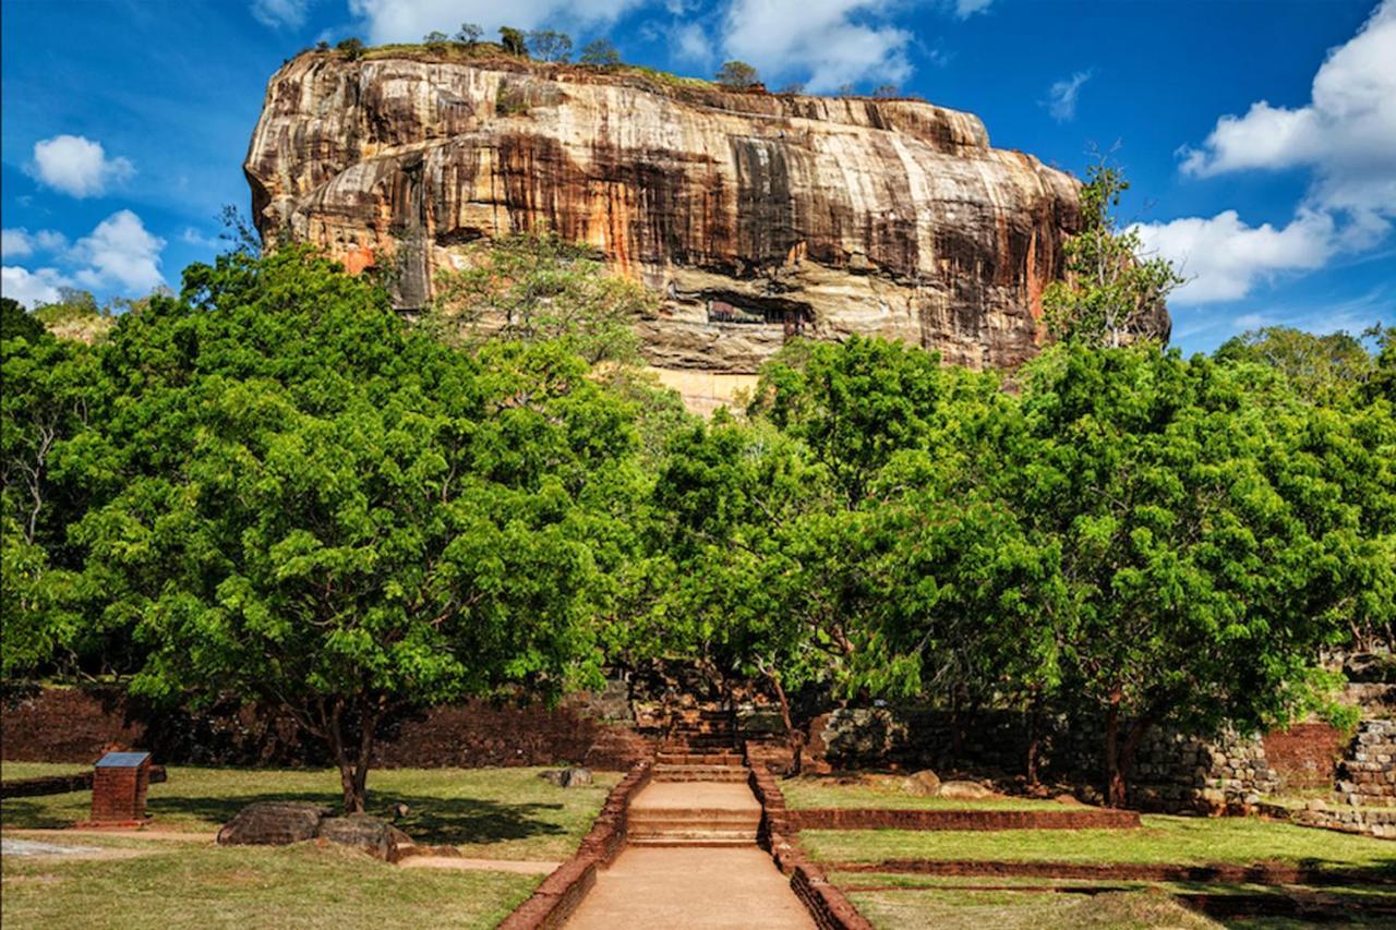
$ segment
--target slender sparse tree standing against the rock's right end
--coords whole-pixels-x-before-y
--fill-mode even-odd
[[[1064,247],[1067,276],[1043,292],[1047,332],[1055,339],[1117,348],[1138,337],[1167,338],[1153,327],[1182,278],[1166,258],[1145,257],[1138,230],[1121,226],[1115,209],[1128,189],[1104,158],[1086,169],[1081,232]]]

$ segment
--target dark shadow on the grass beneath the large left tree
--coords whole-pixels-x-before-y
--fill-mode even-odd
[[[334,813],[339,811],[339,797],[332,793],[276,792],[233,797],[152,797],[149,813],[155,817],[177,815],[225,824],[243,807],[255,802],[313,802],[329,807]],[[394,818],[392,809],[398,804],[408,806],[406,817]],[[473,797],[380,792],[369,795],[367,813],[391,820],[419,843],[458,846],[563,835],[568,832],[567,828],[546,817],[547,811],[560,810],[563,804],[504,804]]]

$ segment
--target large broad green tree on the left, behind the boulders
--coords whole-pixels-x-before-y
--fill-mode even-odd
[[[283,707],[353,811],[385,716],[595,677],[635,434],[582,360],[456,352],[297,249],[184,283],[113,341],[123,483],[75,531],[134,690]]]

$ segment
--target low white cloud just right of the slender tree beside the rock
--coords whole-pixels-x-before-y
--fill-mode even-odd
[[[1168,258],[1188,279],[1168,299],[1180,306],[1238,300],[1279,274],[1322,268],[1340,246],[1333,216],[1311,209],[1283,229],[1248,226],[1234,209],[1136,229],[1146,251]]]

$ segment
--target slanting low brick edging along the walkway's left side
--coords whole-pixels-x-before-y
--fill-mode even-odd
[[[649,783],[651,774],[651,764],[644,761],[617,782],[572,857],[554,869],[524,903],[510,912],[498,930],[553,930],[567,923],[596,884],[596,870],[613,863],[625,848],[630,799]]]

